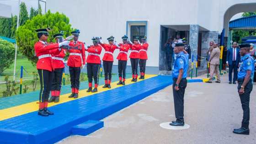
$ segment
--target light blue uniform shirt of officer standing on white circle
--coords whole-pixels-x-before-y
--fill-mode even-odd
[[[182,78],[186,78],[187,77],[187,69],[188,69],[188,54],[185,54],[184,52],[180,52],[176,55],[176,59],[174,62],[174,68],[172,71],[173,78],[178,78],[180,69],[183,69]]]

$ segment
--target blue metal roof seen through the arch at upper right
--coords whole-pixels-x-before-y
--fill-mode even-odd
[[[239,19],[235,19],[233,21],[229,21],[229,28],[246,28],[250,29],[249,27],[256,27],[256,15],[255,16],[248,16],[242,17]],[[255,29],[255,28],[253,28]]]

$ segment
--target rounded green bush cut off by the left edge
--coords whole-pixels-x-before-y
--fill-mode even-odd
[[[0,39],[0,73],[10,68],[14,61],[15,47],[14,44]]]

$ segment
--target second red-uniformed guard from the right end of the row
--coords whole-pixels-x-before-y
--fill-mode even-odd
[[[131,60],[132,73],[133,73],[132,81],[134,81],[134,82],[136,82],[137,78],[138,78],[138,63],[139,63],[139,50],[140,50],[140,47],[141,47],[141,45],[139,43],[139,37],[135,37],[133,39],[132,52],[130,53],[130,56],[129,56],[129,58]]]

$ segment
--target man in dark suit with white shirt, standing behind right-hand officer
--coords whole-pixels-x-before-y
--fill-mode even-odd
[[[232,71],[234,72],[233,84],[237,80],[237,68],[240,62],[239,48],[237,48],[237,43],[232,43],[232,48],[227,51],[227,66],[229,66],[229,84],[232,84]]]

